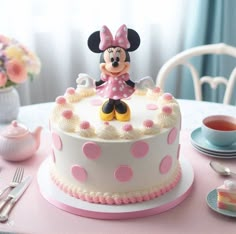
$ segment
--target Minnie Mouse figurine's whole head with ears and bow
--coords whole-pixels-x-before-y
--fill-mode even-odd
[[[106,26],[103,26],[101,31],[92,33],[88,38],[89,49],[101,53],[101,71],[111,76],[118,76],[129,70],[128,52],[136,50],[139,45],[138,33],[125,25],[121,25],[114,38]]]

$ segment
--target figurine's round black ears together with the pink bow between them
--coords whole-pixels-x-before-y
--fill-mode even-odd
[[[113,38],[107,26],[103,26],[100,31],[92,33],[88,38],[88,47],[95,53],[101,53],[109,47],[121,47],[126,51],[134,51],[140,45],[140,37],[133,29],[128,29],[126,25],[121,25]]]

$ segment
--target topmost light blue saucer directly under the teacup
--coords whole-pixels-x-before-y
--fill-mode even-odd
[[[195,129],[191,133],[191,142],[195,146],[198,146],[198,148],[207,150],[208,153],[235,153],[236,154],[236,143],[230,146],[215,146],[210,144],[205,137],[202,135],[201,127]]]

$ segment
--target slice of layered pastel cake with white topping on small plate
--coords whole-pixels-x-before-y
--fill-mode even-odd
[[[217,188],[217,207],[224,210],[236,211],[236,182],[225,180]]]

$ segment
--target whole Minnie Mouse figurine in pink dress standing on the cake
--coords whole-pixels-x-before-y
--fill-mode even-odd
[[[95,53],[101,53],[101,78],[95,82],[97,93],[108,98],[101,107],[100,117],[104,121],[117,119],[130,120],[130,108],[122,99],[128,98],[135,91],[135,83],[130,80],[130,51],[140,45],[138,33],[122,25],[113,38],[110,30],[103,26],[100,31],[88,38],[88,47]]]

